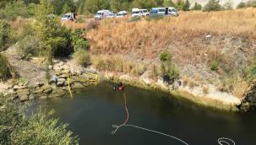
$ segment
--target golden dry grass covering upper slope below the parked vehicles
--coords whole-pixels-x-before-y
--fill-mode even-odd
[[[87,37],[97,52],[136,51],[138,55],[153,57],[172,43],[188,46],[190,41],[208,34],[256,38],[255,13],[256,8],[247,8],[210,13],[186,12],[177,18],[157,21],[110,20],[104,21],[98,30],[91,30]],[[202,50],[200,44],[194,45],[193,56],[203,56]],[[189,52],[188,56],[193,57]]]

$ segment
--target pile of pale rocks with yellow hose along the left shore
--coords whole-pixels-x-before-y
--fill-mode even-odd
[[[30,83],[29,81],[12,83],[9,81],[5,83],[5,88],[2,90],[3,95],[9,95],[13,100],[21,102],[34,99],[51,99],[61,97],[64,94],[69,95],[69,87],[70,89],[82,89],[100,81],[96,72],[89,69],[73,71],[74,69],[68,67],[64,62],[58,62],[49,68],[55,72],[57,84],[53,82],[52,78],[49,83]]]

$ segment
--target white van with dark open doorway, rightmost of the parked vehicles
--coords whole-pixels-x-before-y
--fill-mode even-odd
[[[162,14],[162,15],[175,15],[178,16],[176,8],[166,7],[166,8],[152,8],[152,13]]]

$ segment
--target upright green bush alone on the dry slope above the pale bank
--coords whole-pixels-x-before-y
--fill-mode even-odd
[[[167,83],[173,83],[175,79],[179,78],[179,71],[177,67],[172,63],[172,54],[169,51],[162,51],[160,54],[161,60],[161,72],[164,81]]]

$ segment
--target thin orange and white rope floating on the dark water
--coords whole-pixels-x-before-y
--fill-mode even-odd
[[[124,107],[125,107],[125,110],[126,110],[126,120],[123,122],[122,125],[119,125],[119,126],[118,125],[112,125],[112,127],[115,128],[112,131],[112,134],[115,134],[118,131],[118,129],[123,127],[123,126],[129,126],[129,127],[137,128],[137,129],[140,129],[140,130],[144,130],[146,132],[153,132],[153,133],[156,133],[156,134],[160,134],[162,136],[171,137],[172,139],[175,139],[179,142],[182,142],[183,144],[188,145],[188,142],[184,142],[182,139],[180,139],[178,137],[173,137],[173,136],[168,135],[166,133],[154,131],[154,130],[144,128],[144,127],[141,127],[141,126],[134,126],[134,125],[127,124],[128,118],[129,118],[129,112],[128,112],[128,107],[127,107],[127,98],[126,98],[125,94],[123,94],[123,99],[124,99]],[[219,145],[235,145],[236,144],[233,140],[231,140],[230,138],[226,138],[226,137],[219,138],[218,143],[219,143]]]

